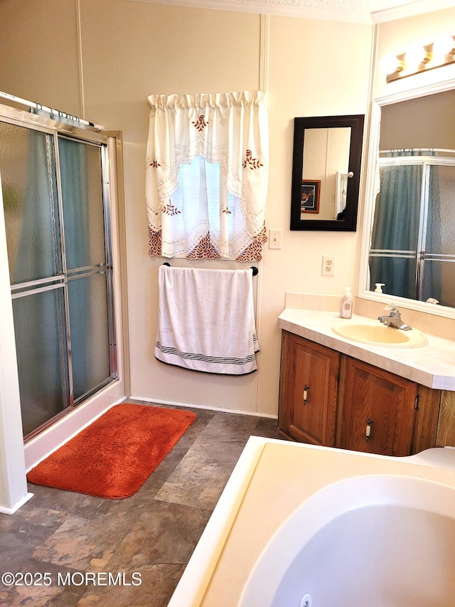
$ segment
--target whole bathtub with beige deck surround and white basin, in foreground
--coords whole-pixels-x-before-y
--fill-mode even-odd
[[[169,603],[220,605],[453,607],[455,450],[251,439]]]

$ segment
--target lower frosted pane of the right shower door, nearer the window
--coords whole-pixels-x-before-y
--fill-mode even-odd
[[[68,281],[74,397],[110,375],[106,275]]]

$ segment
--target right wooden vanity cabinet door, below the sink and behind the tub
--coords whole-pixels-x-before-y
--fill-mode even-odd
[[[342,366],[336,446],[410,455],[418,385],[349,357]]]

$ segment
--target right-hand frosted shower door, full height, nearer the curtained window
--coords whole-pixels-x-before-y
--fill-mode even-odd
[[[75,403],[109,381],[109,273],[102,148],[59,137]]]

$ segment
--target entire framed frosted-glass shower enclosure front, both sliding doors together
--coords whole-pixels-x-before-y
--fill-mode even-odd
[[[108,139],[2,107],[0,179],[26,439],[117,380]]]

